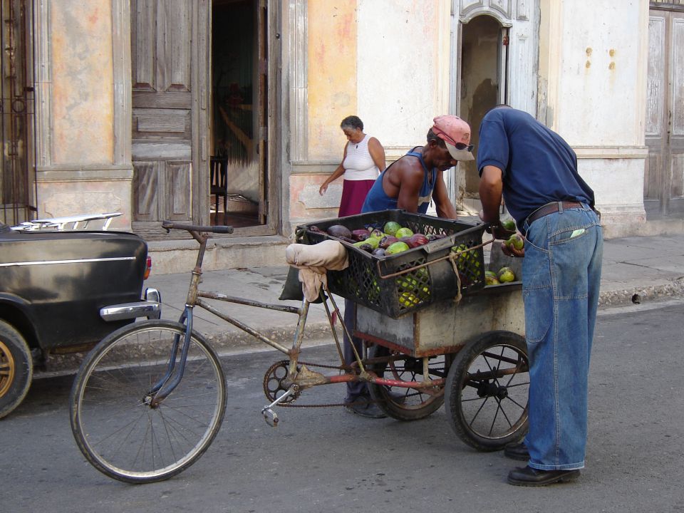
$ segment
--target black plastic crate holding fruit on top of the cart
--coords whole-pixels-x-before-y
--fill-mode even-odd
[[[348,250],[349,266],[343,271],[328,271],[330,291],[392,318],[422,309],[434,301],[457,296],[458,279],[451,260],[444,257],[450,254],[452,248],[462,251],[482,244],[484,224],[411,214],[405,210],[383,210],[303,224],[296,229],[297,241],[301,244],[318,244],[326,239],[339,240],[311,230],[311,227],[317,227],[322,232],[334,224],[341,224],[350,230],[368,227],[383,229],[389,221],[398,222],[414,233],[443,237],[388,257],[375,257],[341,241]],[[459,254],[455,262],[462,293],[482,289],[482,248]],[[415,269],[421,264],[428,265]],[[411,270],[386,277],[407,269]]]

